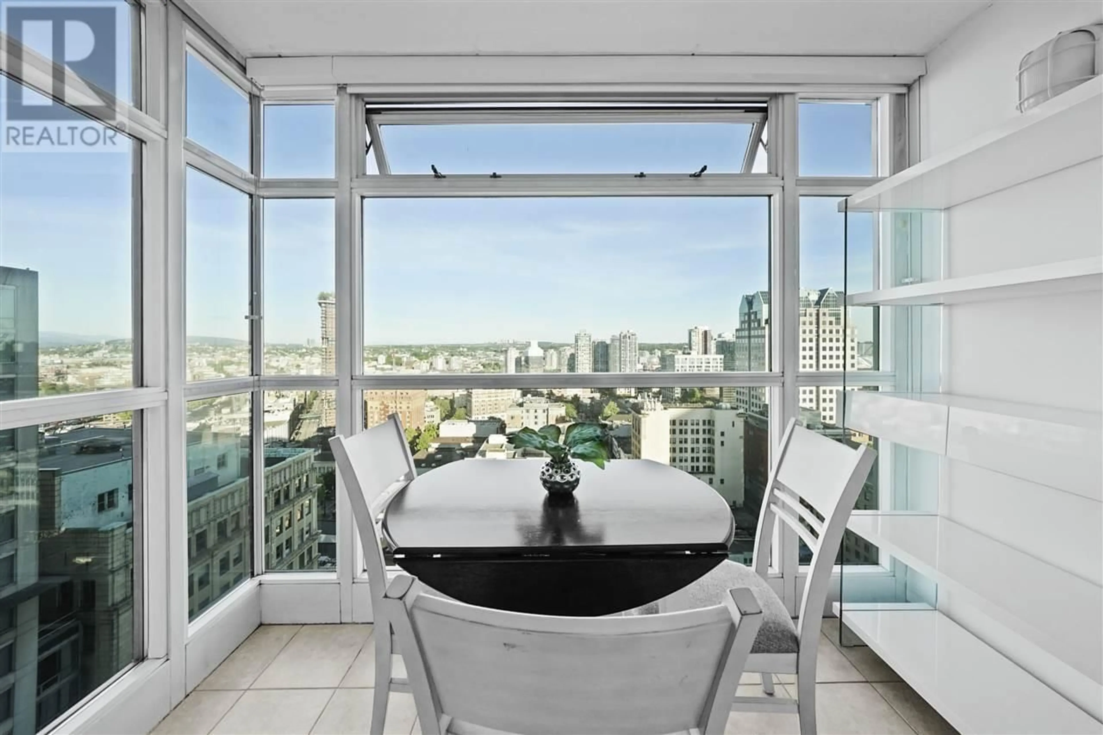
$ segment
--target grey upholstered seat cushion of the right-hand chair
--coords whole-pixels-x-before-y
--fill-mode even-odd
[[[785,604],[754,569],[735,562],[724,562],[711,572],[684,589],[675,593],[676,599],[686,600],[689,609],[722,605],[724,596],[735,587],[748,587],[762,608],[759,628],[751,653],[796,653],[796,626],[789,617]],[[636,615],[658,612],[658,603],[651,603],[633,610]]]

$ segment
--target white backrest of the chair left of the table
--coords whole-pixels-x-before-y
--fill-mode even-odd
[[[416,477],[414,457],[398,414],[390,414],[382,424],[355,436],[335,436],[330,439],[330,447],[352,504],[375,606],[387,587],[376,519],[394,493]]]

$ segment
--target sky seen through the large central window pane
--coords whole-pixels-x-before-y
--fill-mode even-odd
[[[770,283],[767,198],[368,200],[364,222],[368,343],[681,341]]]

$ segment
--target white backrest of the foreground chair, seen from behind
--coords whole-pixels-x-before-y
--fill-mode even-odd
[[[762,618],[746,588],[686,612],[569,618],[446,600],[406,575],[383,605],[426,735],[453,720],[526,735],[722,733]]]

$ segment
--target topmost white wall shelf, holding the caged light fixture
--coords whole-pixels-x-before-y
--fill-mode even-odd
[[[839,203],[839,211],[945,210],[1100,158],[1101,129],[1103,77],[1095,77],[861,190]]]

